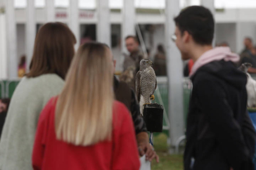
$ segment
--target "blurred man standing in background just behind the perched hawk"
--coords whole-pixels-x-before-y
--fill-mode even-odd
[[[143,59],[143,53],[140,51],[139,41],[135,36],[126,37],[126,48],[130,52],[124,59],[124,72],[120,79],[135,91],[135,75],[140,70],[140,60]]]

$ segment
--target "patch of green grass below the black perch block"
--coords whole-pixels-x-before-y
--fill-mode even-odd
[[[166,134],[160,134],[153,139],[156,153],[160,156],[160,163],[152,161],[152,170],[182,170],[183,158],[182,155],[169,155]]]

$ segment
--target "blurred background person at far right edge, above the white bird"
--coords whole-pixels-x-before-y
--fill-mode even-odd
[[[255,48],[254,48],[252,39],[245,38],[244,46],[245,46],[245,49],[241,52],[241,55],[240,55],[241,56],[240,65],[242,65],[242,63],[252,64],[252,67],[248,69],[248,73],[256,74],[256,53],[255,53]]]

